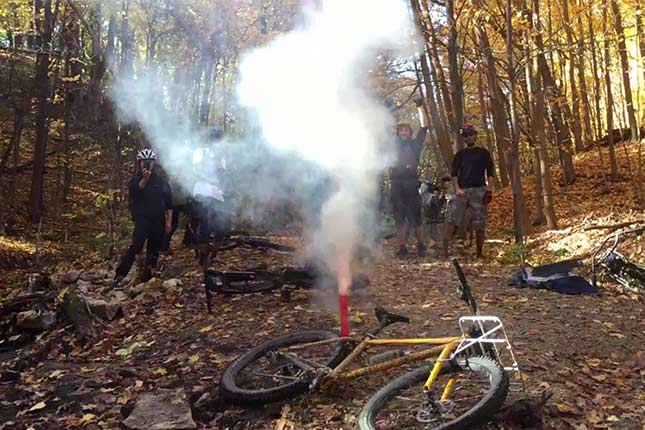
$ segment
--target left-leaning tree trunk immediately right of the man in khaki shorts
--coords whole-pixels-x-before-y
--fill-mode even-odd
[[[479,22],[475,24],[475,34],[485,65],[484,70],[486,71],[488,95],[490,97],[491,114],[493,116],[493,128],[495,130],[495,142],[497,143],[499,158],[500,182],[502,186],[506,187],[509,184],[509,169],[506,154],[508,153],[508,145],[511,140],[508,130],[508,116],[505,110],[504,95],[499,88],[495,58],[493,57],[488,36],[483,25],[483,23]]]

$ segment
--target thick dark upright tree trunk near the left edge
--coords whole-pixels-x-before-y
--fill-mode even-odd
[[[31,192],[29,196],[29,217],[32,222],[38,222],[43,210],[43,178],[45,175],[45,152],[47,151],[49,116],[49,44],[53,31],[51,0],[36,0],[34,13],[40,16],[43,13],[41,28],[38,28],[45,49],[39,50],[36,56],[36,142],[34,146],[34,170],[31,178]]]

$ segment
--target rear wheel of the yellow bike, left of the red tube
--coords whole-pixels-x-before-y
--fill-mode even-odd
[[[338,338],[325,330],[300,331],[264,342],[231,363],[220,381],[227,400],[254,404],[284,400],[305,393],[314,378],[336,367],[345,357],[341,342],[285,348]]]

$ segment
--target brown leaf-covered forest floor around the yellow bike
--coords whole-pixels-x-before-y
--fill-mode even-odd
[[[402,371],[295,399],[288,406],[226,405],[219,399],[218,383],[230,360],[285,332],[336,330],[336,297],[321,291],[298,291],[288,302],[279,292],[217,296],[215,311],[209,315],[190,253],[178,251],[167,261],[170,258],[187,269],[182,289],[146,291],[129,302],[124,318],[98,325],[94,341],[79,344],[69,327],[60,327],[15,356],[2,354],[2,370],[21,362],[24,371],[19,380],[0,383],[0,428],[115,429],[142,393],[182,387],[199,428],[353,429],[369,396]],[[250,250],[229,252],[220,260],[237,268],[259,262],[276,267],[292,264],[290,256]],[[507,270],[475,263],[468,256],[463,260],[482,312],[497,315],[506,324],[525,374],[527,395],[554,393],[545,408],[544,428],[642,429],[642,297],[613,288],[605,289],[603,297],[518,290],[506,285]],[[449,262],[397,260],[386,245],[369,275],[367,292],[351,298],[355,333],[374,327],[376,305],[412,318],[409,326],[392,326],[387,334],[457,333],[457,318],[467,309],[455,293],[457,280]],[[507,420],[494,426],[520,428]]]

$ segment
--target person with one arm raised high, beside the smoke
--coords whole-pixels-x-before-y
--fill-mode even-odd
[[[419,158],[428,132],[428,121],[420,98],[415,99],[419,111],[421,128],[415,137],[412,127],[400,123],[396,127],[396,162],[390,170],[392,211],[396,222],[399,249],[397,255],[408,255],[407,241],[411,230],[417,238],[417,254],[425,255],[425,244],[421,230],[421,196],[419,195]]]

